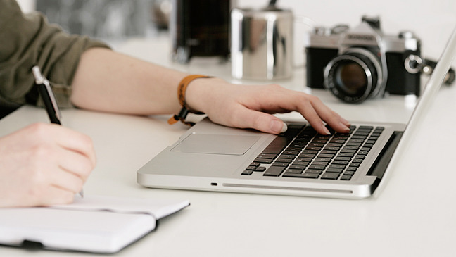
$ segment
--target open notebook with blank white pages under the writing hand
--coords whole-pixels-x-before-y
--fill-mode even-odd
[[[0,245],[115,253],[156,229],[189,201],[75,197],[68,205],[0,208]]]

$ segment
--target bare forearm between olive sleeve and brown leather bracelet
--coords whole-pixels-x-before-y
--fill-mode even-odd
[[[179,111],[177,86],[186,73],[108,49],[82,54],[71,101],[95,111],[152,115]]]

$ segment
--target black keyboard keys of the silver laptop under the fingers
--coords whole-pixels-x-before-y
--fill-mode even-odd
[[[351,126],[346,134],[318,134],[312,127],[291,124],[242,175],[351,180],[384,127]]]

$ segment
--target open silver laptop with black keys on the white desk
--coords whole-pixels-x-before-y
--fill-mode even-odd
[[[407,125],[353,123],[348,134],[326,136],[305,121],[284,120],[289,129],[274,135],[224,127],[205,118],[140,168],[137,182],[212,192],[372,196],[412,137],[455,56],[456,29]]]

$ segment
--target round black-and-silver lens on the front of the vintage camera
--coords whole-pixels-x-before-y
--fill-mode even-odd
[[[379,59],[366,49],[350,49],[336,56],[324,70],[324,87],[349,103],[360,103],[381,92]]]

